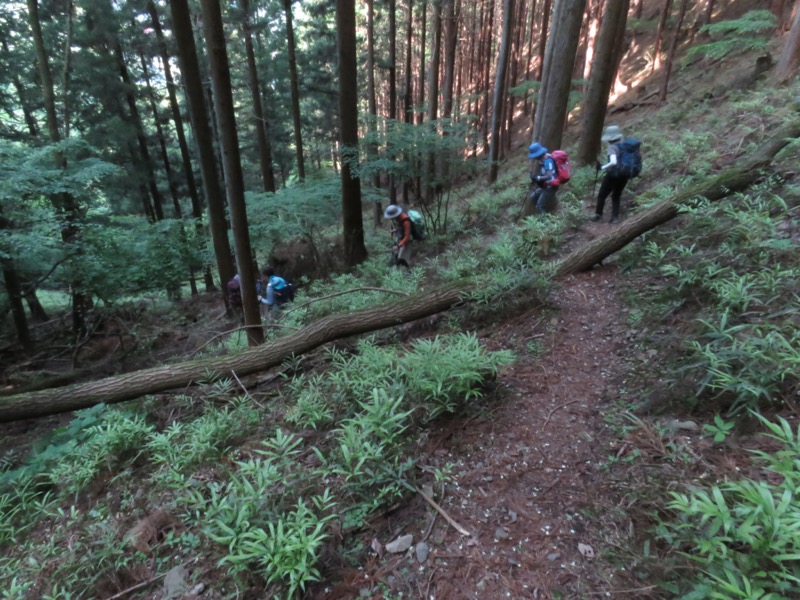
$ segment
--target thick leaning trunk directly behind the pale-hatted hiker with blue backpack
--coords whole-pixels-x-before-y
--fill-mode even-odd
[[[592,75],[583,100],[583,124],[577,163],[592,165],[600,152],[600,136],[608,108],[608,96],[622,56],[630,0],[608,0],[595,46]]]

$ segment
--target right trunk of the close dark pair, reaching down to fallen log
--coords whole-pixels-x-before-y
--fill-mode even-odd
[[[222,159],[225,164],[225,188],[242,289],[242,312],[244,323],[248,326],[248,342],[251,346],[256,346],[264,341],[264,330],[261,328],[261,310],[256,299],[256,278],[247,225],[247,206],[244,201],[244,176],[233,110],[231,72],[222,29],[222,10],[219,0],[202,0],[200,4],[203,9],[203,29],[208,46],[211,82],[214,85],[214,112],[219,124]]]

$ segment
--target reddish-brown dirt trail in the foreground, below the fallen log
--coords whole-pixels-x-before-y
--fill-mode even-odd
[[[585,514],[601,495],[616,496],[604,464],[624,451],[604,421],[626,377],[630,328],[618,293],[617,269],[596,268],[563,282],[557,312],[534,309],[481,335],[487,347],[518,356],[499,378],[496,408],[432,432],[421,460],[454,463],[444,496],[434,490],[471,535],[441,516],[431,527],[434,513],[418,498],[376,537],[410,533],[428,558],[387,555],[363,575],[390,573],[383,580],[395,592],[437,600],[578,598],[623,585],[598,572],[598,515]]]

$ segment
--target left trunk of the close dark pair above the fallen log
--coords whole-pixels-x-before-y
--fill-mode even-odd
[[[178,45],[178,57],[181,63],[183,84],[186,89],[186,100],[189,103],[189,114],[192,119],[194,139],[200,157],[200,172],[203,176],[203,189],[208,207],[208,219],[211,228],[211,239],[214,244],[214,256],[221,279],[220,289],[227,305],[224,293],[225,285],[236,274],[233,264],[228,227],[225,217],[223,191],[217,174],[217,163],[214,157],[214,137],[206,110],[205,89],[200,77],[200,65],[192,32],[192,21],[187,0],[170,0],[172,27]]]

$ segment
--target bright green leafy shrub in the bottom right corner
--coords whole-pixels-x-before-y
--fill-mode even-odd
[[[702,568],[696,579],[670,584],[683,598],[786,598],[800,586],[800,429],[759,418],[784,446],[756,452],[766,480],[671,493],[675,520],[662,523],[660,535]]]

